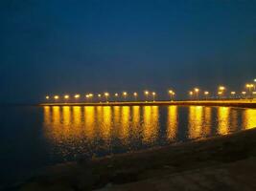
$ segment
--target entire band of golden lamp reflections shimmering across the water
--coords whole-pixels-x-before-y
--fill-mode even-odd
[[[184,139],[195,139],[256,127],[255,109],[169,106],[167,111],[161,110],[166,117],[160,117],[160,109],[157,106],[45,106],[44,133],[55,145],[71,147],[69,150],[74,152],[79,145],[85,152],[93,151],[99,144],[107,150],[114,144],[112,140],[130,148],[134,141],[143,145],[179,141],[179,131],[188,130]],[[164,118],[166,121],[162,121]],[[86,144],[91,148],[85,149]]]

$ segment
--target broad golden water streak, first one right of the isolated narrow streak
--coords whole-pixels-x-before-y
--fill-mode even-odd
[[[202,137],[202,107],[189,107],[189,138]]]

